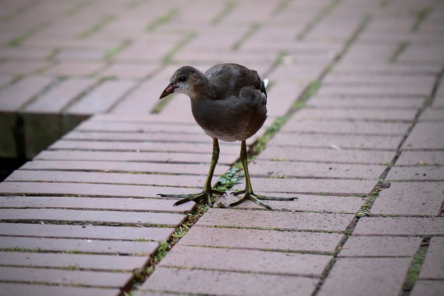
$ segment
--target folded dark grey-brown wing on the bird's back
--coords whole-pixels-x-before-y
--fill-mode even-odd
[[[253,87],[266,96],[264,82],[257,71],[240,64],[216,64],[205,71],[204,75],[218,89],[219,94],[239,96],[243,87]]]

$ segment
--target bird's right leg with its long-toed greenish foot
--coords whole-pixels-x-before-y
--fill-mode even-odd
[[[245,193],[244,197],[238,200],[237,202],[233,202],[230,204],[230,207],[234,207],[237,204],[240,204],[241,202],[244,202],[245,200],[251,200],[259,206],[262,206],[266,209],[272,209],[268,204],[265,202],[262,202],[260,200],[294,200],[296,198],[275,198],[275,197],[268,197],[264,195],[258,195],[253,193],[253,187],[251,186],[250,181],[250,174],[248,173],[248,159],[247,159],[247,147],[246,147],[246,141],[241,141],[241,163],[242,166],[244,166],[244,173],[245,173],[245,189],[234,191],[233,195],[239,195],[242,193]]]

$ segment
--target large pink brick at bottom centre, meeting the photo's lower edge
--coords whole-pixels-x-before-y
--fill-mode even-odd
[[[140,289],[210,295],[290,295],[295,291],[298,295],[311,295],[317,282],[307,277],[157,268]]]

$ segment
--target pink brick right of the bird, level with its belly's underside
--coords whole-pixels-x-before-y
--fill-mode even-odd
[[[268,146],[297,146],[343,149],[386,149],[395,150],[401,143],[401,136],[363,136],[357,134],[298,134],[278,132],[268,141]],[[335,146],[335,147],[336,147]]]

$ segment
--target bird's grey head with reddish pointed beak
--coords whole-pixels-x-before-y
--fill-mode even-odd
[[[160,94],[160,98],[169,96],[173,92],[191,96],[194,88],[201,85],[204,80],[205,76],[198,69],[189,66],[180,67],[171,76],[169,85]]]

